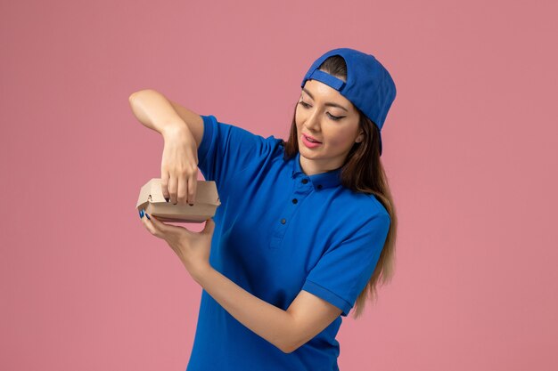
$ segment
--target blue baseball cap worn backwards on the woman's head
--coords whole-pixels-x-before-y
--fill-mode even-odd
[[[319,70],[328,57],[340,55],[347,64],[347,82]],[[372,54],[350,48],[338,48],[325,52],[318,58],[302,79],[320,81],[339,91],[342,96],[360,109],[382,131],[391,103],[395,100],[395,83],[387,69]],[[382,134],[380,135],[380,156],[382,156]]]

